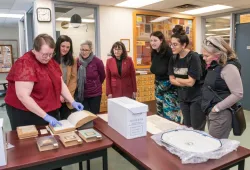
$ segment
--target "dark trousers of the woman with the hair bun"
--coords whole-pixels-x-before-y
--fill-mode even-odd
[[[201,111],[201,97],[193,99],[191,102],[180,102],[184,125],[197,130],[204,130],[206,125],[205,113]]]

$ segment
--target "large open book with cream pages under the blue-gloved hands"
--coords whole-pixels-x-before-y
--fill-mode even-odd
[[[76,128],[96,119],[97,116],[89,111],[77,111],[71,113],[66,120],[59,121],[62,125],[57,125],[53,127],[49,125],[50,129],[54,134],[64,133],[74,131]]]

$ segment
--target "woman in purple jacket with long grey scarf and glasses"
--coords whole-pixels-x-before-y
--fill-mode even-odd
[[[89,40],[80,45],[76,98],[85,110],[97,114],[100,112],[102,83],[106,76],[103,62],[93,54],[92,48]]]

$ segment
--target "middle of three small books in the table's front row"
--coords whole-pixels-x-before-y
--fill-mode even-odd
[[[65,147],[82,144],[82,139],[75,132],[61,133],[59,137]]]

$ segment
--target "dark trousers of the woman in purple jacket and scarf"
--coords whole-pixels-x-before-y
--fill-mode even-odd
[[[98,114],[100,112],[101,99],[102,96],[84,98],[84,110],[88,110],[91,113]]]

